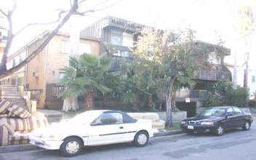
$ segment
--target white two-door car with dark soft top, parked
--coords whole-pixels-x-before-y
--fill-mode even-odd
[[[84,146],[133,142],[147,145],[157,129],[151,120],[132,119],[123,111],[85,111],[67,121],[36,129],[30,143],[40,148],[60,150],[63,156],[76,156]]]

